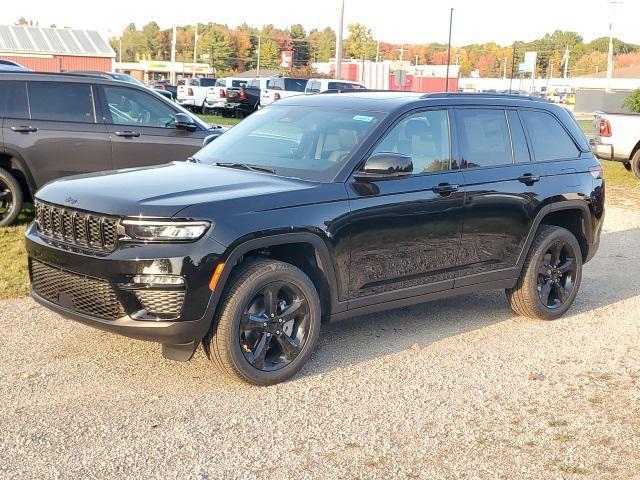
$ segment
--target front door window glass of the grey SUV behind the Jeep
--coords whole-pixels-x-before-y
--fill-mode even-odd
[[[103,87],[111,123],[143,127],[175,127],[175,112],[152,95],[123,87]]]

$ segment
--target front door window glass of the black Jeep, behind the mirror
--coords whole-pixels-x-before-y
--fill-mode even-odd
[[[411,157],[413,173],[449,168],[449,121],[446,110],[429,110],[402,119],[378,144],[374,153]]]

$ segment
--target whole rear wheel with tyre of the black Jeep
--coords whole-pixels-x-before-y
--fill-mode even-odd
[[[581,279],[582,252],[576,238],[564,228],[543,225],[507,298],[520,315],[554,320],[573,304]]]

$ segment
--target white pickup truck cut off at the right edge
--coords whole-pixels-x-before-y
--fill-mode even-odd
[[[640,178],[640,114],[594,112],[593,153],[622,162]]]

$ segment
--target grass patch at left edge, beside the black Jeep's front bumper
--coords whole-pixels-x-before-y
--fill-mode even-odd
[[[15,225],[0,228],[0,299],[29,293],[24,231],[32,219],[33,206],[28,205]]]

